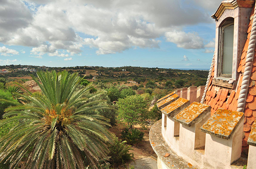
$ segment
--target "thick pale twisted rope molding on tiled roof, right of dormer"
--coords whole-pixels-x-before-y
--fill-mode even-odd
[[[253,54],[255,49],[255,41],[256,41],[256,6],[254,8],[253,14],[253,25],[250,34],[249,46],[246,56],[246,64],[244,69],[244,76],[242,79],[241,90],[239,93],[238,103],[237,103],[237,111],[243,112],[244,104],[247,97],[248,85],[250,81],[250,73],[253,65]]]

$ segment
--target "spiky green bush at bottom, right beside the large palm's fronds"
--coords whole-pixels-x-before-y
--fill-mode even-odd
[[[108,149],[109,163],[113,166],[125,164],[133,159],[133,153],[129,152],[131,146],[127,145],[126,141],[119,140],[115,135],[113,135],[113,144],[110,144]]]

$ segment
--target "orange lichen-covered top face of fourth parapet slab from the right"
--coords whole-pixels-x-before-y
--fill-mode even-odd
[[[164,107],[163,109],[161,109],[161,112],[170,116],[174,110],[179,109],[184,104],[189,104],[189,100],[184,98],[179,98],[176,101]]]

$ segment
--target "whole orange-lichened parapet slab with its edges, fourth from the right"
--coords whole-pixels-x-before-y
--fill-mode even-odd
[[[189,100],[179,98],[176,101],[164,107],[163,109],[161,109],[161,112],[166,114],[167,116],[174,116],[175,114],[180,113],[180,111],[182,111],[188,106]]]

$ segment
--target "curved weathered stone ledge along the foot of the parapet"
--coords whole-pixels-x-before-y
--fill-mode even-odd
[[[196,169],[195,166],[185,161],[169,148],[161,133],[161,123],[161,120],[157,121],[149,131],[149,141],[158,158],[163,161],[169,169]]]

